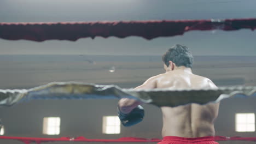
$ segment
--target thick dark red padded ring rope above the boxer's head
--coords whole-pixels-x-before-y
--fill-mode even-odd
[[[8,40],[78,40],[79,38],[138,36],[145,39],[171,37],[184,32],[242,28],[256,29],[256,19],[119,21],[119,22],[0,22],[0,38]]]

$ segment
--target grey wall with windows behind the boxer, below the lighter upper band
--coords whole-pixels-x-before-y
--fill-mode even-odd
[[[114,83],[120,87],[129,88],[136,87],[149,76],[163,71],[161,62],[157,60],[158,57],[153,57],[149,61],[142,61],[139,58],[137,58],[137,61],[133,61],[132,59],[135,59],[135,57],[130,57],[127,61],[124,61],[124,59],[118,62],[117,60],[95,60],[96,64],[90,64],[80,61],[49,60],[49,58],[45,61],[42,61],[42,58],[40,61],[32,61],[31,58],[30,61],[24,59],[11,61],[5,58],[5,60],[1,59],[0,62],[2,80],[0,86],[2,88],[28,88],[52,81],[71,81],[73,79],[73,81],[103,84]],[[241,57],[216,57],[210,61],[207,57],[204,57],[204,59],[195,57],[193,72],[209,77],[218,86],[256,86],[255,59],[255,57],[247,57],[245,61],[245,58]],[[115,66],[116,71],[109,73],[108,70],[112,66]],[[161,111],[158,107],[152,105],[144,105],[146,109],[144,121],[135,127],[121,127],[121,134],[119,135],[102,134],[102,116],[117,115],[117,102],[117,100],[34,100],[11,107],[1,107],[0,117],[5,127],[6,136],[85,136],[89,139],[117,139],[119,137],[136,136],[161,139]],[[255,103],[256,98],[223,100],[220,104],[219,117],[215,125],[216,135],[255,136],[255,132],[237,133],[235,131],[235,113],[256,113]],[[61,117],[60,135],[42,134],[43,117],[51,116]],[[21,142],[0,140],[0,143],[18,144]]]

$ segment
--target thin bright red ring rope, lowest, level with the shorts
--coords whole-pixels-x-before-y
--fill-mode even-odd
[[[51,141],[80,141],[80,142],[160,142],[160,139],[144,139],[139,137],[121,137],[119,139],[86,139],[83,136],[79,137],[60,137],[60,138],[38,138],[38,137],[13,137],[13,136],[0,136],[1,139],[6,140],[19,140],[26,144],[31,142],[41,143],[41,142],[51,142]],[[256,137],[225,137],[225,136],[215,136],[216,141],[256,141]]]

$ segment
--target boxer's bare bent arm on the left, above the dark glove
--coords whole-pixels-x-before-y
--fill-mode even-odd
[[[141,86],[134,89],[151,89],[156,88],[156,76],[150,77]],[[123,98],[119,100],[118,107],[122,113],[130,113],[135,107],[142,104],[141,101],[135,99]]]

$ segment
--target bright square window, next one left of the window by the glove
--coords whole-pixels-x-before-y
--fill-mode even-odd
[[[60,117],[44,117],[43,134],[59,135],[60,134]]]

